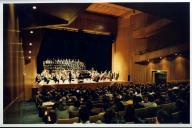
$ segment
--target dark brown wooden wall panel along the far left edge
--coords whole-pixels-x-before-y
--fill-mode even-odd
[[[13,4],[4,5],[3,106],[22,99],[24,93],[24,56],[19,21]]]

